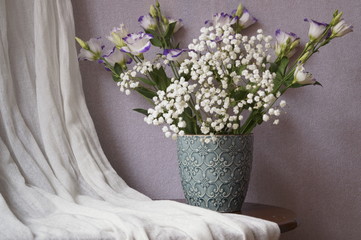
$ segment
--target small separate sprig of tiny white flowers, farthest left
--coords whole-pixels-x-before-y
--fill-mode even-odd
[[[135,79],[138,73],[147,76],[149,72],[152,72],[154,68],[159,69],[160,63],[153,65],[149,61],[143,61],[136,63],[132,69],[129,69],[120,74],[121,81],[117,83],[121,92],[125,92],[126,95],[131,93],[131,89],[135,89],[139,86],[139,81]]]

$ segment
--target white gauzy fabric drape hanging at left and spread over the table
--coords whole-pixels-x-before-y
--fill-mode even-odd
[[[129,188],[86,108],[70,0],[0,0],[0,239],[278,239]]]

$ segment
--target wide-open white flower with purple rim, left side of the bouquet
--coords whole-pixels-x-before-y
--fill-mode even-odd
[[[121,48],[121,51],[131,53],[133,55],[139,55],[147,52],[150,49],[150,39],[153,35],[146,34],[144,32],[128,34],[127,37],[123,38],[126,46]]]

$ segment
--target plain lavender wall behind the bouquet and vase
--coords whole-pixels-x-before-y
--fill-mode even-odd
[[[77,35],[104,36],[120,23],[139,31],[137,18],[153,1],[73,0]],[[307,39],[305,17],[328,21],[345,12],[354,33],[322,49],[307,69],[323,87],[291,90],[278,126],[255,133],[248,201],[293,209],[299,227],[284,240],[358,240],[361,237],[361,22],[360,0],[244,0],[259,18],[251,30],[276,28]],[[238,0],[163,0],[167,15],[184,19],[178,36],[196,37],[204,20],[229,11]],[[184,45],[185,46],[185,45]],[[80,63],[89,111],[109,161],[131,187],[156,199],[182,198],[175,142],[131,109],[145,106],[125,96],[100,66]]]

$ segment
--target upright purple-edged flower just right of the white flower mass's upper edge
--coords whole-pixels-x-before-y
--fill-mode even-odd
[[[275,53],[277,56],[292,57],[296,52],[296,48],[300,44],[300,38],[292,32],[283,32],[281,29],[276,31]]]

